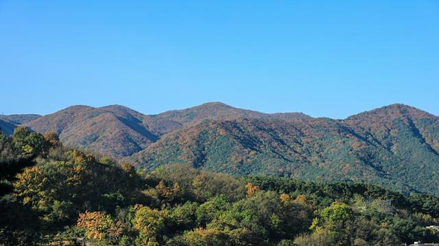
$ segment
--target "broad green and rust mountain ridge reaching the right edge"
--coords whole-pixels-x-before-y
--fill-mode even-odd
[[[185,120],[174,119],[180,118]],[[366,181],[439,194],[438,153],[439,118],[393,104],[346,120],[203,121],[163,136],[129,160],[149,170],[183,163],[233,175]]]

